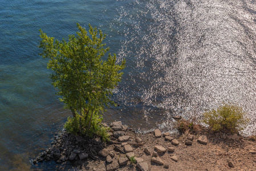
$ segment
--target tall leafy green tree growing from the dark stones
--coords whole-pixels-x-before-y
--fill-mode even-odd
[[[101,121],[99,113],[105,107],[115,105],[111,100],[112,89],[121,81],[123,73],[120,70],[124,68],[125,60],[116,64],[115,54],[108,54],[103,60],[109,50],[104,48],[103,32],[91,25],[89,35],[79,24],[78,29],[76,35],[69,35],[68,41],[55,40],[39,30],[42,38],[39,48],[43,49],[39,55],[50,59],[47,68],[54,71],[52,85],[58,88],[60,101],[75,117],[68,120],[67,129],[83,135],[83,128],[86,134],[92,135],[100,129],[96,128]]]

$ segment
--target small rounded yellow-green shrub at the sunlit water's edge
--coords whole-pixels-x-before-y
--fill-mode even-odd
[[[204,123],[216,132],[237,133],[248,123],[246,112],[241,107],[223,104],[218,109],[204,113]]]

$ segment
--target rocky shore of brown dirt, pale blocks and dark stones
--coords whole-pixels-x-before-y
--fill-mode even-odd
[[[33,164],[54,160],[62,165],[71,162],[74,168],[70,170],[95,171],[255,170],[255,137],[207,132],[174,136],[159,129],[142,134],[121,121],[109,127],[111,141],[107,144],[62,131]]]

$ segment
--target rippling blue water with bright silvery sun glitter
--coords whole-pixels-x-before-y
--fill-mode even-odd
[[[40,28],[62,39],[91,23],[127,60],[107,122],[174,131],[172,116],[200,117],[227,101],[250,117],[243,135],[255,134],[255,1],[0,2],[1,170],[59,167],[29,162],[71,116],[38,56]]]

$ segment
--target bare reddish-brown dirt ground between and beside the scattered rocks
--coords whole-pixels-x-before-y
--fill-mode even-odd
[[[154,132],[146,134],[135,134],[134,132],[125,132],[131,138],[128,143],[132,145],[133,152],[136,157],[143,158],[144,162],[148,163],[148,170],[256,170],[256,150],[255,137],[243,138],[236,137],[231,139],[232,135],[225,133],[209,134],[204,133],[208,139],[206,145],[197,142],[200,135],[194,135],[192,145],[185,145],[186,136],[176,137],[179,144],[172,145],[166,141],[163,136],[155,137]],[[135,139],[139,137],[142,143],[136,144]],[[118,161],[120,157],[125,157],[124,153],[114,150],[114,145],[120,146],[115,138],[112,138],[113,143],[108,143],[106,148],[115,153],[113,160]],[[156,151],[155,145],[162,145],[165,148],[168,146],[174,147],[174,152],[157,153],[161,160],[166,165],[159,165],[152,162],[152,152]],[[121,147],[122,148],[122,147]],[[143,152],[144,148],[151,151],[151,155]],[[170,157],[177,156],[178,161],[173,161]],[[82,162],[78,168],[81,170],[106,170],[106,161],[104,157],[101,160],[87,160]],[[136,164],[128,161],[125,165],[120,165],[117,170],[140,170]]]

